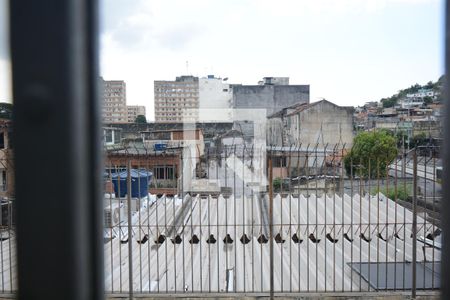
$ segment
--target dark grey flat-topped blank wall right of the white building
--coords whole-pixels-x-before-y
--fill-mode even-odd
[[[296,103],[309,103],[309,85],[233,85],[233,108],[263,108],[270,115]]]

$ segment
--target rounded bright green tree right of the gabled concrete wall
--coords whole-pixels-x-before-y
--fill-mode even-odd
[[[361,177],[385,177],[387,167],[397,156],[396,139],[386,130],[360,132],[344,158],[348,174]]]

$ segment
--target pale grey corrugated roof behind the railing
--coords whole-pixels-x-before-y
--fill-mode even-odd
[[[277,195],[273,203],[275,291],[368,290],[349,263],[412,260],[412,212],[381,194]],[[144,207],[134,216],[134,290],[269,291],[270,243],[259,242],[268,237],[268,211],[268,198],[256,196],[163,197]],[[418,236],[437,229],[419,216],[417,223]],[[105,244],[106,291],[128,290],[128,244],[121,240],[126,233]],[[417,242],[418,261],[440,260],[437,247],[423,245]]]

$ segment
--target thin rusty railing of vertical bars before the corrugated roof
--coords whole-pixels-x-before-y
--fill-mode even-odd
[[[115,168],[129,172],[105,194],[106,292],[438,291],[442,180],[428,169],[440,167],[439,152],[414,151],[411,174],[401,157],[383,169],[381,158],[346,161],[347,153],[345,145],[306,145],[229,146],[201,156],[181,149],[170,159],[146,149],[109,155],[107,178]],[[128,190],[151,191],[153,179],[131,170],[153,171],[162,157],[176,170],[173,194],[119,197],[121,179]]]

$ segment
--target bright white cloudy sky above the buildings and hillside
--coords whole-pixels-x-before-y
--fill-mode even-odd
[[[12,101],[0,0],[0,101]],[[100,70],[154,119],[153,81],[288,76],[311,102],[378,101],[444,73],[444,0],[100,0]]]

